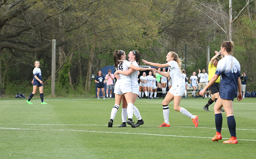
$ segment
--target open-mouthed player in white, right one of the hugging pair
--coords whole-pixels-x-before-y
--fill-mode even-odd
[[[129,61],[131,61],[134,66],[138,67],[138,63],[137,61],[140,59],[140,54],[138,53],[138,51],[136,50],[132,50],[130,51],[130,53],[128,54],[129,57]],[[146,69],[151,69],[151,68],[139,68],[141,71],[145,71]],[[119,74],[122,75],[130,75],[131,78],[131,89],[133,91],[133,104],[135,103],[136,98],[138,97],[138,93],[139,93],[139,86],[138,86],[138,72],[132,68],[130,68],[128,71],[116,71],[115,72],[115,77],[116,79],[119,79]],[[126,127],[126,118],[127,118],[127,102],[126,99],[123,97],[122,99],[122,121],[123,123],[118,126],[118,127]],[[144,124],[144,121],[141,118],[140,112],[138,111],[138,109],[136,108],[135,105],[133,105],[133,113],[136,116],[136,118],[138,119],[138,122],[135,124],[136,127]]]

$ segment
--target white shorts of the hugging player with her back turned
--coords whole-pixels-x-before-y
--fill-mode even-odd
[[[123,95],[125,93],[132,92],[130,80],[117,80],[115,84],[115,94]]]

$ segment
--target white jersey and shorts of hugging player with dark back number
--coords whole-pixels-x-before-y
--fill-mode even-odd
[[[116,70],[127,71],[131,65],[130,61],[120,61]],[[131,90],[131,78],[130,76],[119,74],[119,79],[115,83],[115,94],[123,95],[125,93],[132,92]]]

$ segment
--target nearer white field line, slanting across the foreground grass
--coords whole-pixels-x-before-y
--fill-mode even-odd
[[[109,132],[109,131],[87,131],[87,130],[63,130],[63,129],[21,129],[21,128],[6,128],[0,127],[0,129],[12,129],[12,130],[41,130],[41,131],[78,131],[78,132],[88,132],[88,133],[115,133],[115,134],[133,134],[133,135],[155,135],[155,136],[170,136],[170,137],[190,137],[190,138],[211,138],[211,137],[198,137],[198,136],[180,136],[180,135],[161,135],[161,134],[145,134],[145,133],[123,133],[123,132]],[[222,138],[228,139],[228,138]],[[256,140],[246,140],[237,139],[243,141],[256,141]]]

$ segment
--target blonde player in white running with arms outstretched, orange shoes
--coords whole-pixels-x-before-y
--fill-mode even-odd
[[[164,101],[162,102],[163,106],[163,114],[164,114],[164,123],[162,123],[159,127],[169,127],[169,106],[168,104],[173,100],[173,108],[175,111],[179,111],[183,115],[186,115],[187,117],[191,118],[195,127],[198,126],[198,116],[192,115],[189,111],[187,111],[185,108],[180,107],[180,101],[181,97],[184,94],[185,91],[185,83],[182,79],[181,74],[181,60],[178,57],[178,54],[176,54],[173,51],[170,51],[166,55],[166,64],[158,64],[153,62],[148,62],[146,60],[142,60],[145,64],[156,66],[159,68],[169,67],[168,72],[160,72],[156,69],[153,69],[155,73],[159,73],[162,76],[165,77],[171,77],[172,78],[172,87],[166,94]]]

